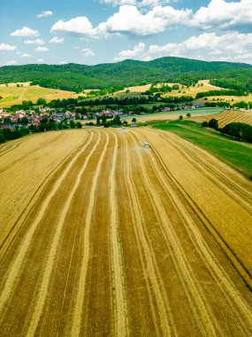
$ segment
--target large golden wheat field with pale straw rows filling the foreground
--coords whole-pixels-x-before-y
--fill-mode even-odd
[[[25,137],[0,162],[1,336],[252,335],[245,177],[149,128]]]

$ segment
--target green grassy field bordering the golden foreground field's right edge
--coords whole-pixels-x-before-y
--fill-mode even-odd
[[[194,121],[153,121],[153,128],[170,131],[214,154],[221,161],[252,178],[252,145],[204,129]]]

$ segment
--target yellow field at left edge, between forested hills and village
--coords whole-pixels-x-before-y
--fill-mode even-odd
[[[21,104],[23,100],[31,100],[36,102],[38,98],[45,98],[47,102],[52,99],[77,98],[79,94],[72,91],[56,90],[50,88],[42,88],[39,85],[29,86],[29,82],[19,83],[23,87],[17,87],[16,83],[0,85],[0,107],[8,107],[14,104]]]

